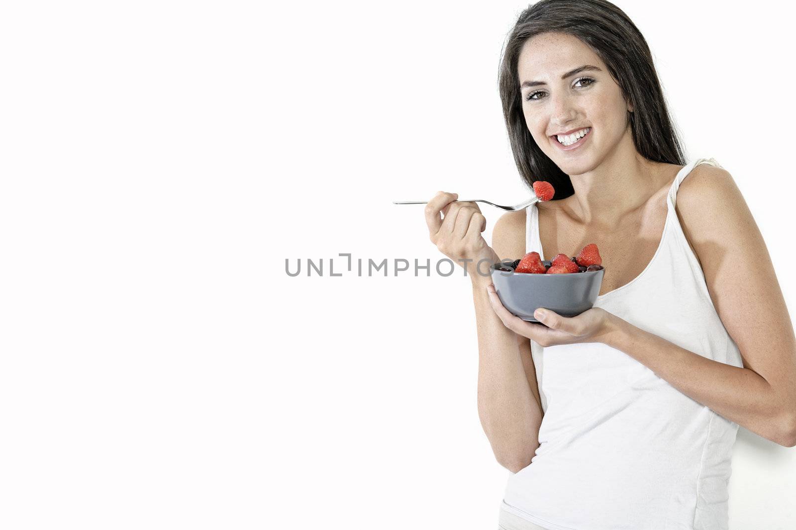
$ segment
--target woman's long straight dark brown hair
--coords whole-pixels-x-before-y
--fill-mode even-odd
[[[606,0],[540,0],[520,14],[509,33],[498,79],[514,162],[527,185],[550,182],[556,189],[554,200],[574,193],[569,176],[540,150],[522,114],[517,60],[525,41],[547,32],[577,37],[603,60],[633,107],[630,127],[639,154],[654,162],[685,165],[650,47],[633,21]]]

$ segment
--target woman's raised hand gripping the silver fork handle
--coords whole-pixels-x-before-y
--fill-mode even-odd
[[[437,192],[428,201],[425,213],[431,243],[464,267],[474,282],[492,283],[490,265],[500,258],[481,236],[486,229],[486,217],[474,202],[456,199],[457,193]]]

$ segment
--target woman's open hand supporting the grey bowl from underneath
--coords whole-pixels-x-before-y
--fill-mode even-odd
[[[490,283],[486,290],[490,295],[492,309],[501,319],[503,325],[543,347],[576,342],[600,342],[608,331],[611,318],[615,318],[613,314],[601,307],[592,307],[576,317],[562,317],[551,310],[537,309],[533,316],[542,324],[526,322],[509,313],[509,310],[503,306],[497,296],[494,284]]]

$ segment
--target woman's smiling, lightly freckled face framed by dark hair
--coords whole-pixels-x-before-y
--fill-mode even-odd
[[[596,68],[579,69],[583,66]],[[620,142],[633,146],[631,107],[603,60],[577,37],[542,33],[525,41],[517,73],[528,130],[564,173],[579,175],[599,166]],[[583,129],[587,134],[571,146],[565,144],[572,137],[561,143],[556,136]]]

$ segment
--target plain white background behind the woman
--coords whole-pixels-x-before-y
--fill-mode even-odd
[[[469,280],[328,267],[442,257],[393,200],[528,196],[497,95],[526,5],[3,4],[0,526],[496,528]],[[618,5],[793,311],[793,13]],[[742,427],[731,528],[792,528],[794,471]]]

